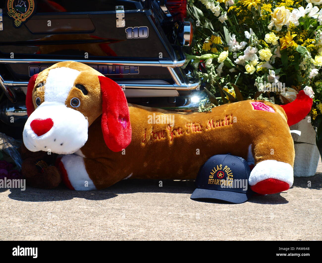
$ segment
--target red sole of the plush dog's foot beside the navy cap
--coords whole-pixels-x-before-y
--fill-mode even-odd
[[[251,189],[261,195],[270,195],[288,190],[289,184],[281,180],[269,178],[251,186]]]

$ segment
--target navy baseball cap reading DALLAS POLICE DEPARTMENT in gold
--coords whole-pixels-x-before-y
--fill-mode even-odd
[[[218,154],[210,157],[199,169],[197,188],[191,199],[218,199],[230,203],[246,202],[254,193],[248,179],[251,171],[242,157]]]

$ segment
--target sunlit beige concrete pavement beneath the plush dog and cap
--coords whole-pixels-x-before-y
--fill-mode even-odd
[[[0,240],[321,240],[321,165],[318,171],[243,204],[193,201],[193,181],[0,189]]]

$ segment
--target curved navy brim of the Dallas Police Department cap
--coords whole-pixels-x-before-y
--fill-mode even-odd
[[[248,200],[251,197],[251,193],[236,193],[231,191],[217,191],[217,190],[208,190],[208,189],[195,189],[191,195],[191,199],[217,199],[223,200],[230,203],[241,204]]]

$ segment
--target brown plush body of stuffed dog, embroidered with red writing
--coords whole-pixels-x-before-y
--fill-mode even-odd
[[[275,113],[254,110],[251,101],[225,104],[204,113],[177,113],[129,104],[132,142],[125,154],[107,148],[98,118],[81,148],[87,157],[86,170],[99,189],[130,174],[131,178],[195,179],[209,157],[231,153],[246,159],[249,145],[255,164],[277,160],[293,166],[294,146],[285,113],[278,105],[262,102]],[[173,115],[174,126],[148,124],[153,113]]]

